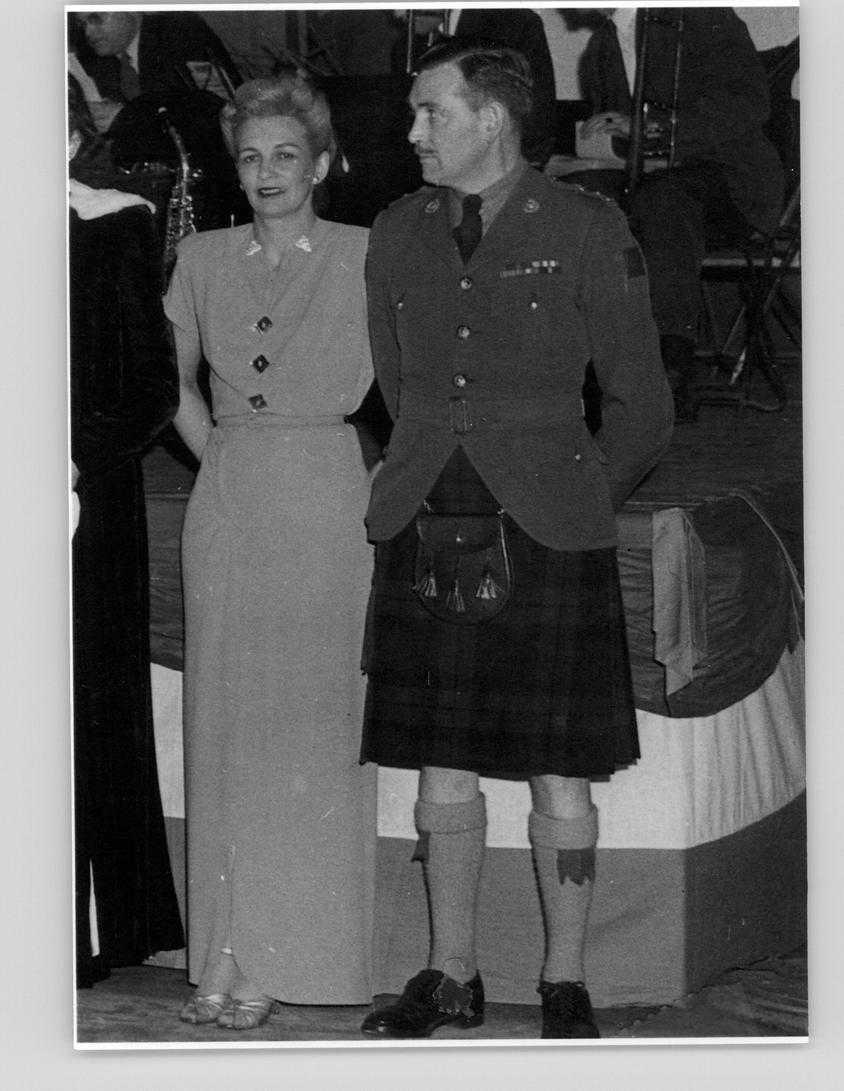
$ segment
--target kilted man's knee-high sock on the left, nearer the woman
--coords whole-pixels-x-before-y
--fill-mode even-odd
[[[474,920],[486,843],[486,800],[415,806],[420,831],[415,859],[425,864],[431,899],[432,970],[469,981],[478,970]]]

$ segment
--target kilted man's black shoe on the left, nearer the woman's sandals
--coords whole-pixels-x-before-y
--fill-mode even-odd
[[[372,1038],[427,1038],[446,1023],[461,1030],[480,1027],[483,1008],[480,974],[461,984],[439,970],[423,970],[395,1004],[366,1016],[361,1030]]]

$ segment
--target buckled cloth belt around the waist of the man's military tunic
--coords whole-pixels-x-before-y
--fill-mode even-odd
[[[402,389],[399,417],[421,424],[437,424],[462,435],[477,428],[560,424],[581,420],[583,401],[579,392],[535,398],[426,398]]]

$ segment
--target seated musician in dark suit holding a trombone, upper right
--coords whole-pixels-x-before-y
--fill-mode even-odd
[[[642,9],[591,9],[600,23],[581,59],[593,113],[581,141],[603,133],[628,149]],[[591,14],[590,13],[590,14]],[[647,170],[625,205],[644,253],[663,363],[677,420],[697,416],[695,344],[707,243],[735,244],[776,225],[783,170],[762,132],[765,75],[732,8],[652,9],[643,73],[644,146],[670,156]],[[663,160],[664,161],[664,160]],[[566,173],[566,181],[620,197],[622,170]]]

